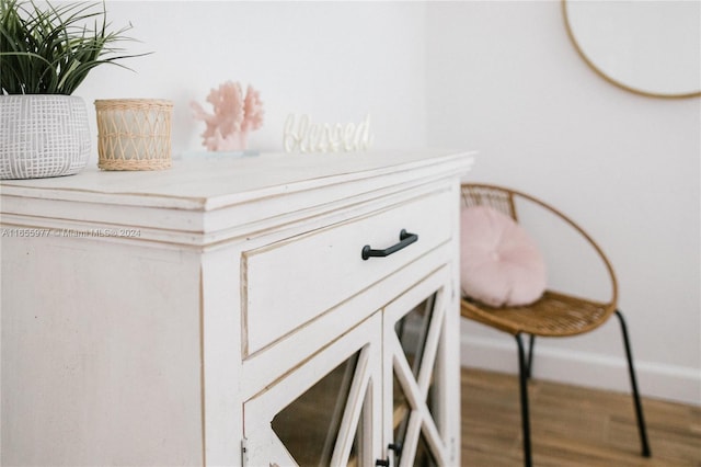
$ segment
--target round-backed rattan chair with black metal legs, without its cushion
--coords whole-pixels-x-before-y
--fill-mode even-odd
[[[611,263],[604,254],[604,251],[596,244],[579,226],[565,215],[530,195],[516,192],[514,190],[486,185],[486,184],[463,184],[462,206],[485,205],[510,216],[519,221],[517,208],[525,204],[531,204],[555,215],[572,227],[585,239],[594,251],[600,257],[610,278],[611,297],[609,300],[594,300],[582,298],[555,291],[545,291],[543,296],[536,303],[515,308],[491,308],[476,300],[464,297],[461,300],[461,315],[464,318],[507,332],[516,338],[518,348],[518,368],[520,385],[521,423],[524,441],[524,464],[530,466],[531,442],[530,421],[528,412],[528,379],[531,375],[533,344],[536,337],[567,337],[582,334],[591,331],[606,322],[612,315],[616,315],[620,326],[628,358],[628,368],[633,394],[633,405],[637,418],[637,429],[642,445],[642,455],[651,456],[643,409],[637,392],[637,383],[633,367],[633,356],[631,353],[628,329],[623,315],[617,308],[618,283]],[[531,210],[529,210],[531,212]],[[528,335],[528,350],[525,348],[524,337]]]

